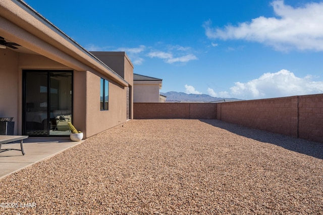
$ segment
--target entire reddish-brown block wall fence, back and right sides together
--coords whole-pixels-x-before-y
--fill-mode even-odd
[[[323,94],[225,103],[134,103],[134,119],[219,119],[323,142]]]

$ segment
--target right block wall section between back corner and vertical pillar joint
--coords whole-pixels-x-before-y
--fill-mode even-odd
[[[297,137],[297,97],[219,103],[217,118]]]

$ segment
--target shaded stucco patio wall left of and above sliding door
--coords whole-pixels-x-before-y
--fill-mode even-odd
[[[0,49],[0,117],[14,117],[22,133],[22,69],[69,69],[46,57]]]

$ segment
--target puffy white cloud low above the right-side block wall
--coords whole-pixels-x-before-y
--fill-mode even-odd
[[[247,83],[236,82],[235,86],[230,88],[230,93],[220,92],[217,94],[212,89],[209,89],[208,93],[214,93],[219,97],[227,95],[225,97],[239,99],[262,99],[323,93],[323,82],[314,82],[311,79],[311,76],[296,77],[291,71],[282,69],[277,73],[265,73],[258,79]]]

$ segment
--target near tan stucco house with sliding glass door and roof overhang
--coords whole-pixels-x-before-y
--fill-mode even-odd
[[[71,121],[86,138],[133,118],[126,53],[87,51],[23,1],[0,1],[0,82],[14,134],[67,136]]]

